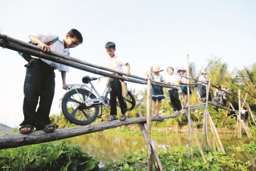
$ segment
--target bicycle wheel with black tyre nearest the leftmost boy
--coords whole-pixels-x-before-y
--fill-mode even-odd
[[[95,99],[95,95],[89,96],[85,89],[74,89],[69,91],[62,99],[61,109],[65,117],[76,125],[91,124],[99,113],[99,105],[87,106],[83,102]]]

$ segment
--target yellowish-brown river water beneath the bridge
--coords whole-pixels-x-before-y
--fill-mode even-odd
[[[250,140],[246,135],[243,135],[242,139],[234,138],[234,134],[219,134],[219,136],[222,144],[225,146],[239,146],[243,145],[244,143],[250,143]],[[179,145],[189,145],[188,134],[178,137],[152,137],[152,139],[155,141],[157,151]],[[68,141],[81,146],[83,152],[88,153],[90,156],[97,156],[97,158],[101,161],[101,165],[107,161],[112,162],[123,158],[125,154],[131,153],[130,149],[146,148],[146,141],[142,136],[123,137],[120,135],[110,136],[103,133],[91,133],[70,138]],[[199,141],[201,143],[201,138],[199,138]],[[212,143],[211,139],[210,143]],[[197,145],[195,140],[193,140],[193,144]],[[255,157],[251,158],[250,156],[246,155],[240,155],[238,157],[242,161],[252,160],[252,163],[256,162]],[[256,170],[256,168],[254,169]]]

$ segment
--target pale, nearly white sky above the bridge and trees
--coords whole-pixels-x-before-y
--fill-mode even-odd
[[[255,63],[255,1],[1,1],[0,32],[29,41],[31,33],[55,33],[64,37],[75,28],[83,44],[71,56],[97,65],[106,65],[104,45],[116,43],[116,54],[131,65],[132,75],[143,77],[150,66],[166,68],[195,62],[198,70],[207,58],[220,57],[229,70]],[[0,123],[17,127],[23,120],[23,83],[26,61],[17,52],[0,48],[2,97]],[[93,74],[71,68],[67,83],[81,83]],[[60,73],[56,71],[52,113],[59,112]],[[104,81],[103,81],[104,82]],[[104,87],[104,83],[99,88]],[[136,86],[130,84],[131,86]],[[140,86],[138,86],[140,88]]]

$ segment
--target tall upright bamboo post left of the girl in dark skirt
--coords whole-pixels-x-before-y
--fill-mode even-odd
[[[150,71],[148,73],[148,80],[147,80],[147,107],[146,107],[146,125],[147,125],[147,170],[152,170],[152,149],[151,149],[151,122],[152,122],[152,67],[150,67]]]

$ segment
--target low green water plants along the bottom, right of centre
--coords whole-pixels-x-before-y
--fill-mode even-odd
[[[190,149],[186,146],[177,146],[158,152],[162,166],[165,170],[244,170],[250,162],[234,159],[234,154],[226,156],[221,152],[211,150],[205,153],[206,162],[203,161],[199,149],[194,147],[194,161],[190,159]],[[133,150],[123,159],[108,162],[101,170],[147,170],[147,151],[145,149]],[[205,150],[204,150],[205,151]],[[138,164],[143,163],[143,164]],[[153,170],[155,168],[153,167]]]

